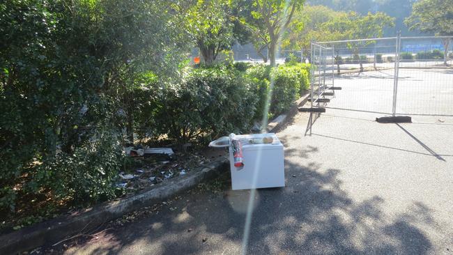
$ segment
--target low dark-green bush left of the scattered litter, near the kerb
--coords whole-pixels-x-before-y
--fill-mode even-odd
[[[111,132],[98,133],[74,153],[61,152],[46,160],[47,164],[37,167],[38,174],[27,186],[29,191],[52,190],[54,199],[70,198],[77,202],[75,206],[113,199],[114,181],[123,161],[119,138]]]

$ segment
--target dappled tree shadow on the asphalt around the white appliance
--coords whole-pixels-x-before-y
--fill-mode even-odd
[[[433,252],[418,227],[436,225],[427,206],[414,202],[389,219],[384,199],[353,201],[342,188],[339,169],[300,163],[318,148],[301,151],[285,150],[286,187],[257,190],[247,254]],[[84,240],[67,253],[239,254],[250,192],[231,191],[228,172],[216,181],[225,184],[220,192],[193,190],[158,214],[106,231],[101,241]]]

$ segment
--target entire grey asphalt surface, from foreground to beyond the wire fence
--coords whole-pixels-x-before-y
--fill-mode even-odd
[[[425,86],[445,90],[448,96],[438,102],[450,100],[445,70],[408,72],[401,72],[410,80],[402,89],[410,84],[422,89],[418,79],[442,75]],[[387,75],[344,76],[338,82],[345,89],[330,105],[388,109]],[[361,100],[355,91],[371,96]],[[348,100],[352,95],[358,99]],[[452,112],[452,104],[440,105],[429,109]],[[414,123],[396,125],[376,123],[376,116],[328,109],[312,136],[303,134],[307,114],[278,132],[285,146],[286,187],[256,193],[249,254],[453,254],[453,118],[415,116]],[[249,192],[232,192],[228,184],[208,187],[56,251],[239,254]]]

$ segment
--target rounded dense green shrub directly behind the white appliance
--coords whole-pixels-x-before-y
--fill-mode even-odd
[[[158,113],[161,133],[185,144],[249,130],[258,101],[250,86],[231,67],[192,70],[183,84],[164,93]]]

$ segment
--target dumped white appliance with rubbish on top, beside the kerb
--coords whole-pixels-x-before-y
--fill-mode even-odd
[[[234,153],[232,141],[242,145],[242,161],[236,167],[237,154]],[[237,144],[236,144],[237,145]],[[210,147],[229,146],[231,186],[233,190],[259,189],[265,187],[284,187],[284,154],[283,144],[274,133],[244,134],[222,137],[211,141]]]

